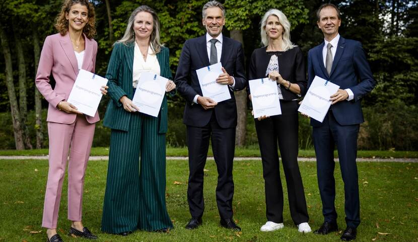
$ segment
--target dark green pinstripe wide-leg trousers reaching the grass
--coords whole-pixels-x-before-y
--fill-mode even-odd
[[[112,129],[102,231],[173,227],[165,201],[165,145],[158,118],[149,115],[132,114],[127,132]]]

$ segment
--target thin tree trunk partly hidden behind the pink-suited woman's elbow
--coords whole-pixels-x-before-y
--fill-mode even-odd
[[[41,56],[41,49],[39,47],[39,36],[36,28],[32,28],[33,37],[33,52],[35,56],[35,77],[38,71],[39,58]],[[36,130],[36,148],[41,149],[43,143],[43,128],[42,128],[42,102],[41,93],[35,86],[35,130]]]

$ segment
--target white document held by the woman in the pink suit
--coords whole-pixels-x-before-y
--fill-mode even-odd
[[[68,96],[67,102],[69,107],[78,110],[80,113],[94,117],[102,95],[107,93],[103,89],[106,84],[106,78],[80,69],[73,89]],[[65,107],[59,108],[64,110]]]

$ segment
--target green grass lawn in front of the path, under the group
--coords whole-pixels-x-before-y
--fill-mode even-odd
[[[418,164],[359,163],[362,223],[356,241],[418,241]],[[217,170],[209,161],[205,169],[205,212],[203,226],[184,228],[190,215],[186,200],[188,165],[184,160],[167,162],[167,208],[174,223],[168,234],[135,231],[127,237],[100,232],[107,162],[89,163],[84,192],[83,222],[99,235],[97,241],[340,241],[337,233],[301,234],[290,217],[285,194],[285,228],[260,232],[265,223],[264,183],[261,162],[234,164],[234,218],[241,233],[221,228],[215,200]],[[316,164],[300,163],[305,186],[310,224],[313,229],[323,221],[317,188]],[[43,198],[48,172],[47,160],[0,160],[0,241],[45,241],[41,227]],[[282,181],[285,179],[282,171]],[[336,207],[340,229],[344,223],[344,194],[339,166],[336,164]],[[287,192],[284,187],[285,193]],[[64,241],[87,241],[66,236],[66,180],[63,185],[58,231]],[[39,233],[31,234],[31,231]]]

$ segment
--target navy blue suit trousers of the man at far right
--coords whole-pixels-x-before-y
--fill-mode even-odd
[[[316,154],[318,186],[322,200],[322,214],[327,222],[336,221],[335,179],[334,179],[334,146],[337,145],[339,167],[344,182],[345,222],[347,226],[357,227],[360,224],[360,198],[357,173],[357,136],[360,125],[340,125],[332,111],[319,127],[313,127],[312,136]]]

